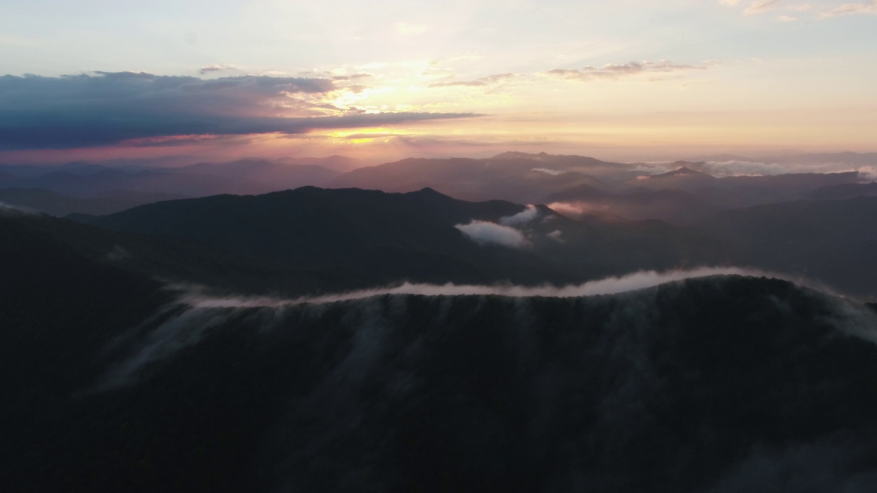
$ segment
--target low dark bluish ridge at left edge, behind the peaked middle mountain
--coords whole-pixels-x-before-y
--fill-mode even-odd
[[[162,200],[182,198],[172,194],[115,191],[98,197],[63,196],[44,189],[0,189],[0,202],[44,212],[51,216],[67,216],[72,213],[111,214],[125,211],[137,205],[152,204]]]

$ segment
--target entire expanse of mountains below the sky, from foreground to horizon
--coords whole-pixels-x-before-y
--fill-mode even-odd
[[[333,159],[0,175],[4,490],[877,488],[873,182]]]

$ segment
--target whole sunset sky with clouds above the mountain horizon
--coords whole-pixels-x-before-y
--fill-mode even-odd
[[[3,11],[0,162],[877,151],[877,0]]]

